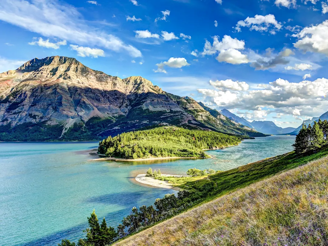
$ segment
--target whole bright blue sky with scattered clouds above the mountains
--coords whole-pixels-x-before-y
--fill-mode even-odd
[[[297,127],[328,110],[328,2],[0,2],[0,72],[75,57],[246,119]],[[305,76],[306,75],[306,76]]]

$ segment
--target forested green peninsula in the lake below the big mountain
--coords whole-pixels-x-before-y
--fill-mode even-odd
[[[149,157],[206,157],[203,149],[237,145],[241,139],[222,133],[173,126],[121,133],[99,143],[98,151],[126,159]]]

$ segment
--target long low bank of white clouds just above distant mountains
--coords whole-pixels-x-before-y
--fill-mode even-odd
[[[314,81],[304,80],[299,83],[279,78],[269,84],[258,84],[257,88],[261,89],[243,91],[237,91],[238,84],[231,81],[211,84],[215,89],[198,89],[198,92],[204,96],[202,100],[228,109],[251,110],[259,114],[265,114],[260,111],[268,109],[274,113],[303,117],[316,116],[326,112],[328,107],[326,97],[328,79],[326,78],[318,78]],[[222,89],[220,86],[225,87]]]

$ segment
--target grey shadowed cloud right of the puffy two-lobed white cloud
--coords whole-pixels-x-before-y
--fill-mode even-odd
[[[271,55],[271,50],[269,51]],[[261,57],[257,59],[255,62],[252,62],[251,66],[255,68],[255,70],[267,70],[269,68],[274,68],[277,65],[286,65],[289,63],[289,60],[287,60],[285,57],[288,57],[290,55],[293,55],[294,52],[290,49],[285,49],[284,51],[280,51],[276,56],[264,58]]]

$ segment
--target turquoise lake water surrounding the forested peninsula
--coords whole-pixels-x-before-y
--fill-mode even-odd
[[[0,245],[54,246],[83,237],[93,209],[116,226],[133,206],[176,191],[136,183],[149,167],[163,174],[189,168],[229,170],[291,151],[295,136],[244,140],[208,151],[213,159],[148,162],[90,161],[98,142],[0,143]]]

